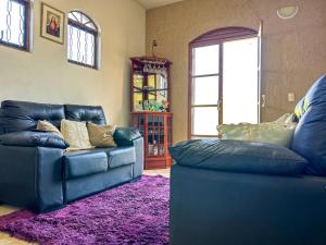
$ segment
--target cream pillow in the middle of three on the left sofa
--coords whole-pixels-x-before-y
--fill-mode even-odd
[[[75,122],[64,119],[61,121],[61,133],[71,146],[68,150],[93,148],[89,142],[86,122]]]

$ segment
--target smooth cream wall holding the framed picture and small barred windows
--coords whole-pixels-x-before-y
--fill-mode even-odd
[[[82,10],[99,24],[101,69],[95,71],[68,63],[66,42],[62,46],[39,36],[40,0],[35,0],[33,51],[0,46],[0,100],[101,105],[110,123],[127,125],[128,58],[145,53],[145,9],[134,0],[46,2],[65,13]]]

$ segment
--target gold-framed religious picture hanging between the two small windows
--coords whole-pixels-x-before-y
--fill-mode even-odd
[[[41,3],[41,37],[63,45],[64,21],[65,17],[62,11],[43,2]]]

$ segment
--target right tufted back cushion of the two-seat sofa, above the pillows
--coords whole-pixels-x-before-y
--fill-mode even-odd
[[[71,121],[91,122],[99,125],[106,123],[102,107],[65,105],[64,111],[65,118]]]

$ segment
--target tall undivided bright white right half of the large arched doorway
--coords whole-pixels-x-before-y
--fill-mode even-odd
[[[224,44],[223,123],[258,123],[258,38]]]

